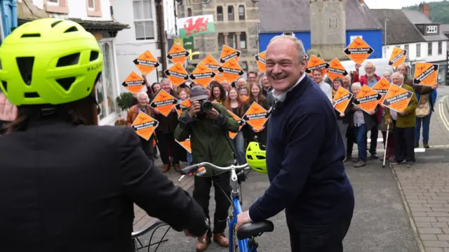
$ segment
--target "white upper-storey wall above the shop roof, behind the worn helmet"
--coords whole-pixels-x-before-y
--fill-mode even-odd
[[[89,17],[87,15],[87,1],[86,0],[67,0],[67,4],[69,7],[69,13],[66,14],[58,14],[51,13],[53,17],[60,18],[81,18],[83,20],[104,20],[110,21],[112,20],[111,11],[109,6],[111,6],[109,0],[100,0],[101,2],[101,17]],[[33,4],[43,9],[43,0],[33,0]]]

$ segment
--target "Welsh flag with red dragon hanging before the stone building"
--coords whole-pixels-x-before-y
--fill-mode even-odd
[[[213,15],[178,18],[176,25],[181,39],[215,32]]]

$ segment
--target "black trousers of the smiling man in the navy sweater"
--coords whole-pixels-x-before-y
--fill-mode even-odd
[[[352,212],[328,225],[301,225],[288,211],[286,218],[292,252],[343,252],[343,239],[351,225]]]

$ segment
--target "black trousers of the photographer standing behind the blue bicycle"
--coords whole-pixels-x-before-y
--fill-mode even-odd
[[[213,215],[213,233],[220,234],[225,232],[227,225],[227,217],[231,202],[228,197],[231,197],[232,187],[230,185],[231,173],[228,171],[214,177],[197,177],[195,176],[193,197],[198,204],[203,208],[206,218],[209,220],[209,200],[210,187],[213,184],[215,189],[215,213]],[[221,187],[221,189],[220,189]],[[225,192],[223,192],[225,191]],[[208,237],[212,236],[212,232],[208,230]]]

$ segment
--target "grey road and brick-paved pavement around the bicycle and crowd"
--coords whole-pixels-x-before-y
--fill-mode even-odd
[[[346,163],[346,171],[354,187],[356,208],[344,239],[344,251],[449,252],[449,96],[445,98],[445,95],[449,95],[449,87],[438,88],[439,97],[431,117],[431,148],[417,152],[417,163],[413,168],[401,165],[382,168],[379,160],[370,160],[363,168],[354,168],[351,162]],[[377,146],[382,157],[382,145]],[[161,167],[159,160],[156,165]],[[175,171],[171,170],[167,175],[175,184],[192,193],[192,178],[178,183],[180,176]],[[262,196],[269,183],[266,175],[251,172],[242,186],[243,209],[248,209],[257,197]],[[214,193],[212,189],[211,199]],[[211,200],[211,213],[214,209],[215,204]],[[258,250],[290,251],[284,213],[271,220],[275,230],[257,237]],[[145,211],[135,207],[135,230],[152,221],[154,219]],[[152,242],[163,232],[162,228],[156,231]],[[142,237],[144,244],[147,244],[149,235]],[[165,238],[168,242],[157,251],[195,251],[195,240],[182,233],[169,230]],[[207,251],[225,252],[227,248],[211,244]]]

